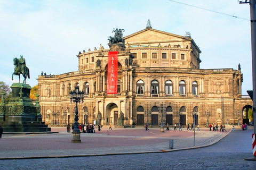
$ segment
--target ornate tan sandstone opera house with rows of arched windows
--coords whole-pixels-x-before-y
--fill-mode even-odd
[[[125,48],[118,53],[117,94],[106,92],[108,52],[114,47],[100,45],[99,50],[79,52],[78,71],[38,77],[46,123],[74,122],[75,104],[70,103],[69,91],[75,86],[85,91],[84,103],[78,104],[78,122],[83,124],[185,125],[193,122],[193,111],[196,124],[237,124],[238,117],[242,123],[252,101],[241,95],[241,69],[200,69],[201,50],[190,36],[147,27],[124,39]]]

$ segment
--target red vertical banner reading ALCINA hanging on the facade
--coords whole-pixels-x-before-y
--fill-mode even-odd
[[[107,94],[117,94],[118,52],[108,52],[108,87]]]

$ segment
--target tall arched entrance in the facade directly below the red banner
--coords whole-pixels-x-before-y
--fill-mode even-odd
[[[118,106],[115,103],[110,103],[106,106],[106,125],[118,125]]]

